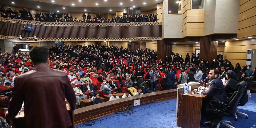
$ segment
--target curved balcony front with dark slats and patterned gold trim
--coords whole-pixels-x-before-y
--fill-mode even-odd
[[[23,31],[24,26],[33,31]],[[38,41],[132,41],[161,40],[162,22],[55,23],[0,17],[0,39]]]

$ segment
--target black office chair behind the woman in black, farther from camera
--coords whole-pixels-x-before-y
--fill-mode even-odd
[[[238,106],[244,106],[247,102],[248,102],[248,94],[247,94],[247,90],[251,90],[251,87],[253,86],[253,76],[247,77],[245,78],[246,81],[246,86],[245,86],[245,93],[243,93],[242,98],[240,99],[240,101],[238,102]],[[235,120],[237,121],[237,114],[243,114],[246,116],[246,119],[248,119],[248,115],[242,112],[239,112],[237,110],[237,113],[235,114]]]

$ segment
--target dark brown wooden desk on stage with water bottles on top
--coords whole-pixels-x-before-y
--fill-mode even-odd
[[[207,83],[206,86],[209,86]],[[198,82],[190,82],[191,91],[197,89],[199,86]],[[177,89],[177,103],[176,103],[176,126],[184,128],[200,128],[201,122],[201,109],[202,100],[207,98],[203,94],[184,94],[184,88],[180,87]]]

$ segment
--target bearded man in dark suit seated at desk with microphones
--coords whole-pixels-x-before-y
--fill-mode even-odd
[[[210,88],[209,90],[203,89],[201,90],[201,94],[207,95],[210,97],[210,100],[217,100],[224,103],[227,103],[227,94],[223,85],[223,82],[221,81],[219,76],[219,71],[217,69],[211,69],[209,72],[209,79],[211,80]],[[222,106],[221,104],[212,104],[214,107],[223,109],[225,106]],[[205,104],[205,108],[209,108],[210,102]],[[212,121],[212,124],[210,127],[215,127],[216,123],[218,122],[218,116],[213,113],[207,113],[205,111],[204,106],[202,105],[202,112],[205,115],[206,121]]]

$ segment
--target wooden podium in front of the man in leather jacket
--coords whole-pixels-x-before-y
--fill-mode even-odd
[[[75,128],[74,125],[74,111],[70,110],[69,104],[66,103],[67,106],[67,111],[69,113],[71,122],[72,122],[72,126],[70,126],[69,128]],[[24,119],[24,111],[21,110],[20,113],[18,115],[16,115],[15,118],[11,119],[11,127],[12,128],[26,128],[26,123],[25,123],[25,119]]]

